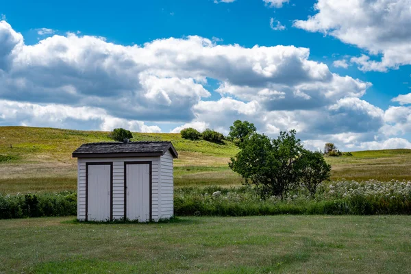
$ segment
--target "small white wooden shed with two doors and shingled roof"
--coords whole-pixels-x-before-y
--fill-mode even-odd
[[[77,158],[77,219],[147,222],[169,219],[173,207],[171,142],[93,142]]]

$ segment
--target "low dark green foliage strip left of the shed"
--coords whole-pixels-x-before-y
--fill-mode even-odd
[[[0,194],[0,219],[77,214],[77,193]]]

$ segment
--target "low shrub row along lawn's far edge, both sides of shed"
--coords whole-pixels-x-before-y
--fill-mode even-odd
[[[176,188],[176,216],[251,216],[275,214],[411,214],[411,182],[338,181],[314,199],[303,188],[261,199],[251,186]],[[0,219],[77,214],[76,192],[1,195]]]

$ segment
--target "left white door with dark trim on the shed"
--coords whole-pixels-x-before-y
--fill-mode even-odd
[[[110,221],[110,179],[109,164],[88,166],[88,221]]]

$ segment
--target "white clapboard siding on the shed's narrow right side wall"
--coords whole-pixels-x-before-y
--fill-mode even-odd
[[[174,215],[174,180],[173,180],[173,155],[167,151],[160,157],[161,167],[161,216],[162,219]]]

